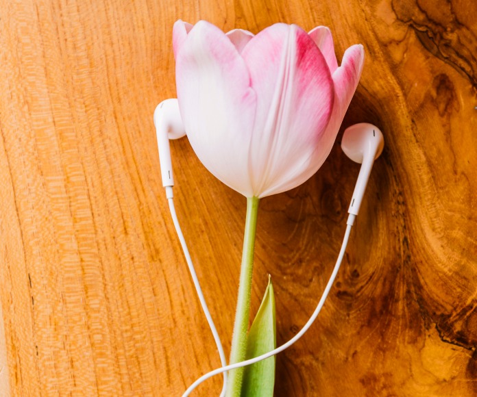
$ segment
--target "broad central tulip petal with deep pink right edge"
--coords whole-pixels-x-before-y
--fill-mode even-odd
[[[311,157],[328,125],[334,84],[317,45],[296,25],[261,31],[242,56],[257,94],[249,172],[254,194],[262,197],[274,194],[289,172],[300,175],[308,167],[303,159]]]

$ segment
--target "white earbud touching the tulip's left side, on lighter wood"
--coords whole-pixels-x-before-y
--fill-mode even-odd
[[[186,135],[177,99],[166,99],[157,105],[154,110],[154,125],[158,138],[162,186],[166,188],[174,185],[169,139],[178,139]]]

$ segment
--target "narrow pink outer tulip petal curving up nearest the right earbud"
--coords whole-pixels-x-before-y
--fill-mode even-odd
[[[333,73],[334,81],[334,105],[330,123],[323,133],[320,145],[309,157],[302,158],[302,164],[286,172],[282,177],[282,183],[273,186],[272,190],[263,192],[262,196],[269,196],[295,188],[317,172],[330,154],[334,140],[343,122],[346,110],[356,91],[358,82],[363,71],[365,52],[361,44],[355,44],[345,51],[341,66]]]

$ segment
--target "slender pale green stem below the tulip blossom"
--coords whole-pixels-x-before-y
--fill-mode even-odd
[[[247,197],[247,217],[243,238],[242,264],[238,284],[237,308],[235,312],[234,333],[230,363],[245,360],[247,353],[247,331],[250,317],[250,297],[252,296],[252,271],[254,267],[254,246],[257,227],[258,197]],[[227,383],[227,397],[241,394],[243,368],[231,370]]]

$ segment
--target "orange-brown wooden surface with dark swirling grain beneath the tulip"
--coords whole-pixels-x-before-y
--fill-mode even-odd
[[[178,396],[219,366],[152,123],[175,96],[178,18],[328,25],[339,60],[365,46],[343,127],[374,123],[387,146],[319,320],[278,356],[276,396],[477,395],[477,3],[346,3],[0,1],[1,396]],[[187,140],[171,146],[228,351],[245,199]],[[269,273],[279,344],[319,299],[358,170],[337,144],[308,182],[260,203],[252,310]]]

